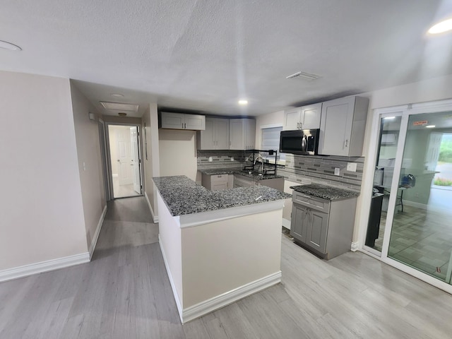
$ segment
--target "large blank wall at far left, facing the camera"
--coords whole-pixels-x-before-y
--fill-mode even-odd
[[[68,79],[0,71],[0,270],[88,251]]]

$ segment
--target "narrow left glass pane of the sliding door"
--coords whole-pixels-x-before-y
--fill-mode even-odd
[[[394,162],[402,117],[382,117],[380,120],[379,146],[377,150],[374,189],[372,191],[369,222],[365,245],[381,252],[386,226],[386,212],[391,194]]]

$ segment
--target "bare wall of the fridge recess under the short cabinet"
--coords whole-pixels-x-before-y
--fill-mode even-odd
[[[159,129],[160,176],[186,175],[196,181],[196,131]]]

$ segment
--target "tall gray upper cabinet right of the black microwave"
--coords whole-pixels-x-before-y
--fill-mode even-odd
[[[369,99],[343,97],[323,102],[319,154],[362,156]]]

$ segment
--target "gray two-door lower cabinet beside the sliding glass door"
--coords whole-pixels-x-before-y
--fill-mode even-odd
[[[350,251],[356,201],[328,201],[294,191],[290,234],[295,242],[326,259]]]

